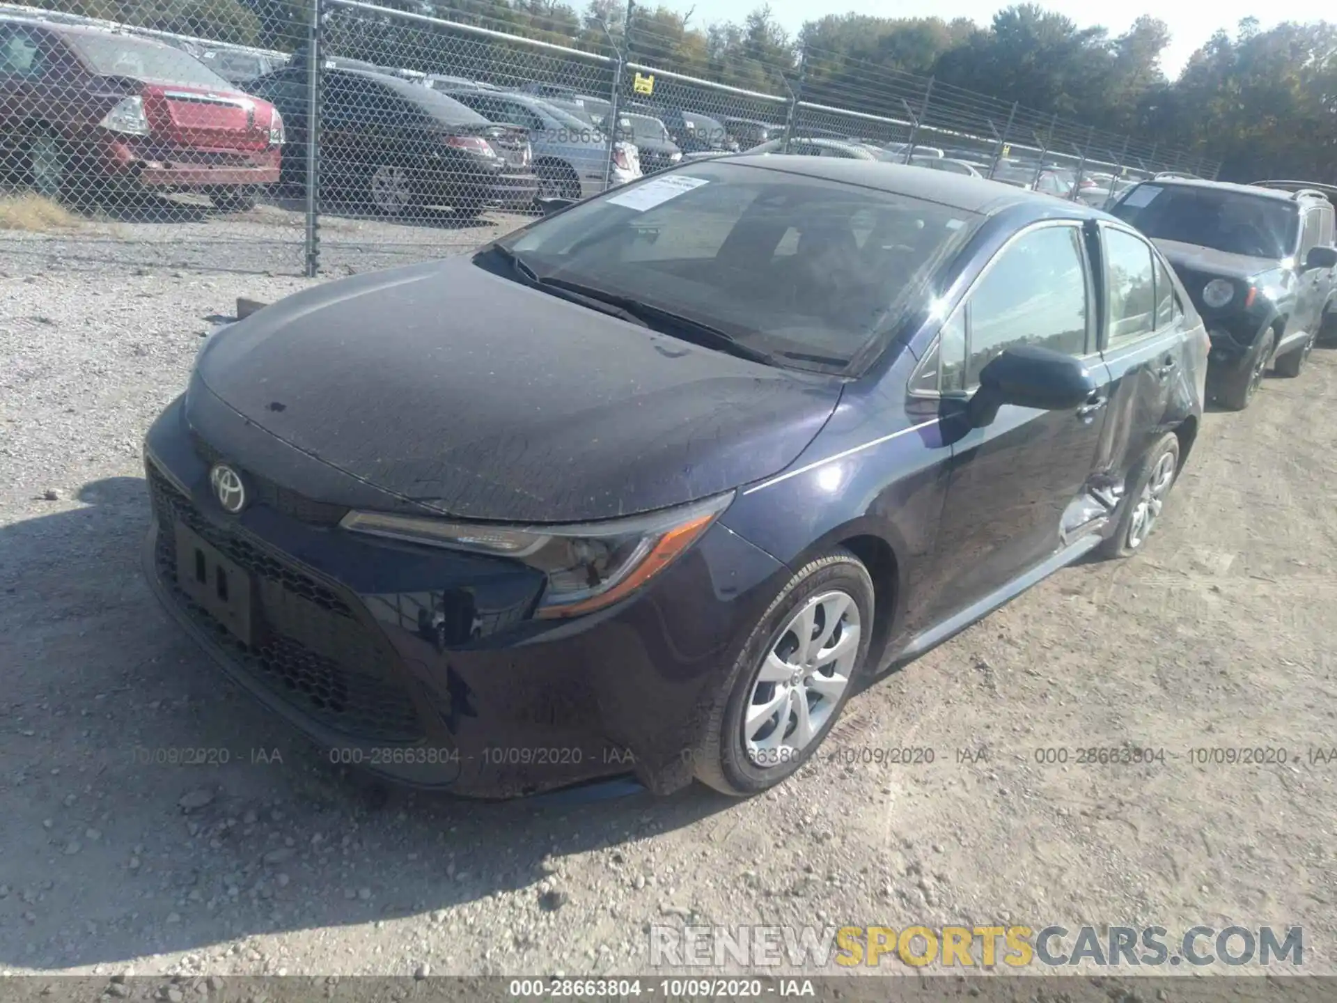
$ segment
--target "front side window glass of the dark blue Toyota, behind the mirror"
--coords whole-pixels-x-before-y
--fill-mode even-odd
[[[975,386],[980,370],[1015,345],[1080,356],[1086,341],[1080,234],[1075,226],[1032,230],[1001,253],[971,293],[965,386]]]

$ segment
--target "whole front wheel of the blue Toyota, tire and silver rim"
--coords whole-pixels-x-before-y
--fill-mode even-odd
[[[809,611],[812,617],[805,619]],[[719,687],[697,750],[697,778],[721,793],[746,797],[775,786],[802,766],[840,718],[864,669],[873,612],[873,580],[853,554],[836,548],[805,564],[762,614]],[[806,661],[796,623],[813,625],[809,643],[824,635],[828,641]],[[841,645],[841,654],[832,654]],[[777,678],[762,679],[763,670]],[[818,677],[821,682],[810,686]],[[802,710],[794,702],[800,697]],[[745,717],[750,707],[767,703],[775,710],[769,717],[754,711],[749,752]],[[809,717],[812,711],[820,719]],[[800,744],[802,721],[809,722],[810,733]]]

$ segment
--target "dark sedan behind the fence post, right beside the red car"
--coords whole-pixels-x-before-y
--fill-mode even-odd
[[[305,68],[281,70],[251,92],[285,112],[306,142]],[[321,189],[386,214],[449,206],[459,215],[524,209],[539,181],[523,128],[495,126],[453,98],[389,74],[328,68],[321,96]],[[302,185],[306,159],[289,158],[283,179]]]

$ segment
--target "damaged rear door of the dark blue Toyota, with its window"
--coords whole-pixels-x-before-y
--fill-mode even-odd
[[[1132,230],[1099,223],[1088,237],[1106,284],[1100,356],[1110,373],[1096,467],[1111,503],[1132,465],[1166,431],[1171,395],[1194,378],[1183,304],[1161,254]]]

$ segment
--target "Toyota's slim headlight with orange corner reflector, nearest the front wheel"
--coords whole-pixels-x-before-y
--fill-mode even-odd
[[[536,617],[578,617],[611,606],[668,567],[733,502],[733,492],[630,519],[578,526],[452,523],[389,512],[349,512],[345,530],[512,558],[544,572]]]

